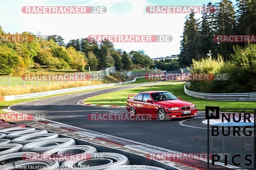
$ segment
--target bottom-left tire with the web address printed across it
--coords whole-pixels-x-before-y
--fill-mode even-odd
[[[8,170],[17,170],[17,168],[15,166],[37,166],[39,167],[38,170],[45,170],[46,166],[51,166],[52,169],[57,169],[59,167],[59,163],[57,161],[53,161],[53,160],[18,160],[12,163],[8,163],[8,164],[4,164],[4,166],[9,167]],[[0,169],[0,170],[6,170],[6,168],[4,169]]]

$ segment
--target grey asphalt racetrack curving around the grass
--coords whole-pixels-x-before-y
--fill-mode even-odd
[[[154,83],[151,83],[154,84]],[[24,114],[42,114],[46,119],[68,125],[97,131],[100,133],[122,137],[125,139],[150,144],[183,153],[207,153],[207,124],[202,123],[205,120],[205,112],[199,111],[194,118],[172,119],[172,121],[90,121],[89,114],[98,113],[127,113],[126,108],[94,107],[81,106],[79,100],[108,92],[115,92],[129,88],[140,87],[148,84],[118,86],[108,89],[92,90],[88,92],[79,92],[56,97],[27,101],[13,105],[11,109]],[[225,148],[223,140],[225,139]],[[231,139],[224,137],[213,138],[209,144],[210,153],[252,153],[253,140],[251,141],[252,151],[245,150],[245,136]],[[248,138],[249,139],[249,138]],[[238,141],[239,140],[239,141]],[[238,143],[237,143],[238,141]],[[248,142],[247,142],[248,143]],[[234,149],[234,146],[236,146]],[[217,149],[217,147],[219,147]],[[217,150],[215,150],[217,149]],[[220,153],[220,152],[219,152]],[[253,159],[253,156],[251,157]],[[228,163],[230,163],[228,160]],[[244,158],[237,158],[242,165],[247,161]]]

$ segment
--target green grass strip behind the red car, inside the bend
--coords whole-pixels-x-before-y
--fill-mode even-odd
[[[166,84],[166,82],[157,83],[154,86],[143,86],[128,90],[122,90],[118,92],[111,92],[107,94],[102,94],[99,96],[92,97],[86,100],[86,103],[90,104],[102,104],[102,105],[118,105],[126,106],[126,100],[128,94],[136,94],[139,92],[146,91],[169,91],[181,100],[186,100],[194,103],[198,110],[205,110],[205,106],[219,106],[220,108],[255,108],[256,102],[246,102],[246,101],[214,101],[214,100],[203,100],[188,96],[184,92],[185,83],[173,83]],[[222,110],[224,111],[224,110]],[[225,110],[229,112],[238,112],[238,110]],[[240,110],[245,111],[245,110]]]

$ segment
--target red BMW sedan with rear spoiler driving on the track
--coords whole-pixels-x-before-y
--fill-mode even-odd
[[[131,96],[132,99],[130,99]],[[170,92],[151,91],[128,95],[127,111],[131,116],[136,114],[150,114],[161,121],[172,118],[193,117],[197,115],[197,108],[193,103],[180,100]]]

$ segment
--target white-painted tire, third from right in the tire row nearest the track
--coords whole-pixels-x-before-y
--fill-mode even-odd
[[[93,146],[89,145],[74,145],[74,146],[66,146],[61,148],[55,148],[49,151],[42,153],[43,156],[47,155],[49,158],[53,158],[53,160],[57,160],[60,164],[65,160],[71,160],[74,155],[86,155],[86,153],[95,153],[97,149]],[[84,156],[83,155],[83,156]]]

